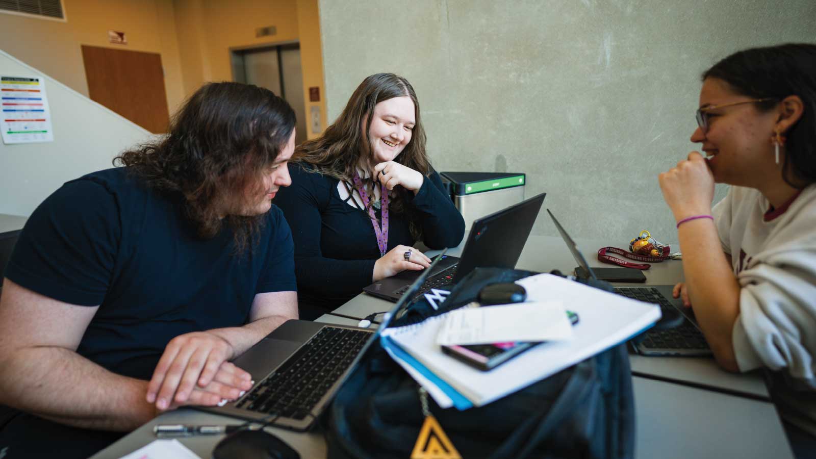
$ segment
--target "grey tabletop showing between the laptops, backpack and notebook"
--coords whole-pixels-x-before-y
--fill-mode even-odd
[[[595,252],[608,241],[579,239],[590,265],[602,265]],[[457,255],[461,247],[449,253]],[[531,235],[517,267],[526,270],[561,270],[571,273],[576,263],[561,238]],[[680,261],[654,264],[645,271],[646,283],[673,284],[682,279]],[[638,285],[638,284],[620,284]],[[324,314],[317,322],[357,325],[358,319],[376,311],[389,310],[392,303],[361,294]],[[342,317],[342,315],[350,316]],[[636,457],[792,457],[792,452],[772,403],[768,401],[761,374],[744,375],[722,371],[713,359],[655,358],[633,355],[633,387],[636,405]],[[725,394],[723,391],[730,391]],[[743,395],[740,395],[743,394]],[[122,457],[151,442],[157,424],[232,424],[236,420],[211,413],[181,408],[166,412],[126,435],[94,459]],[[322,433],[296,433],[267,428],[270,433],[297,449],[301,457],[326,457]],[[222,438],[180,439],[202,458]]]

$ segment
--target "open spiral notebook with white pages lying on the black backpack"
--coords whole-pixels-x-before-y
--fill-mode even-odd
[[[552,274],[530,276],[517,283],[525,287],[530,301],[561,300],[567,309],[579,314],[581,320],[575,325],[570,341],[537,345],[490,372],[482,372],[442,353],[436,337],[442,319],[449,313],[414,325],[388,328],[380,341],[389,354],[401,355],[403,361],[397,359],[398,363],[403,367],[410,365],[426,378],[420,381],[415,377],[420,384],[441,381],[437,391],[450,397],[456,408],[465,409],[468,403],[457,397],[475,406],[485,405],[627,341],[660,319],[660,308],[655,305]],[[409,373],[415,376],[414,372]],[[425,387],[434,396],[431,388]],[[439,403],[436,396],[434,399]]]

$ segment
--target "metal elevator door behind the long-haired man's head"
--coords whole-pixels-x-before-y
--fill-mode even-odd
[[[295,110],[295,145],[306,140],[306,103],[299,45],[233,51],[232,57],[235,81],[265,87],[282,96]]]

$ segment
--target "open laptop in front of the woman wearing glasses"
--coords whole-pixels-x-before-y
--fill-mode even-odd
[[[589,273],[593,280],[597,280],[595,272],[589,266],[587,259],[578,248],[578,244],[570,238],[564,227],[549,209],[547,213],[555,223],[566,247],[578,265]],[[683,305],[683,301],[672,297],[673,285],[650,285],[647,287],[614,287],[614,292],[628,296],[635,300],[646,301],[660,306],[663,318],[658,323],[676,322],[676,327],[668,329],[650,329],[644,335],[630,342],[630,348],[643,355],[681,355],[686,357],[712,355],[711,349],[703,337],[703,332],[694,319],[694,312]],[[642,338],[642,339],[641,339]]]

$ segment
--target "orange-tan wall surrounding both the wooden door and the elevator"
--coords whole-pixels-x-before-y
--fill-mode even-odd
[[[317,0],[63,0],[67,21],[0,14],[0,47],[73,90],[88,95],[82,45],[162,56],[171,114],[204,82],[233,79],[230,48],[300,42],[306,113],[319,105],[326,127],[326,91]],[[274,25],[273,36],[255,29]],[[108,30],[127,34],[126,45],[108,42]],[[321,101],[308,102],[308,87]],[[308,121],[308,120],[307,120]],[[307,126],[309,123],[307,123]],[[308,127],[308,137],[317,136]]]

